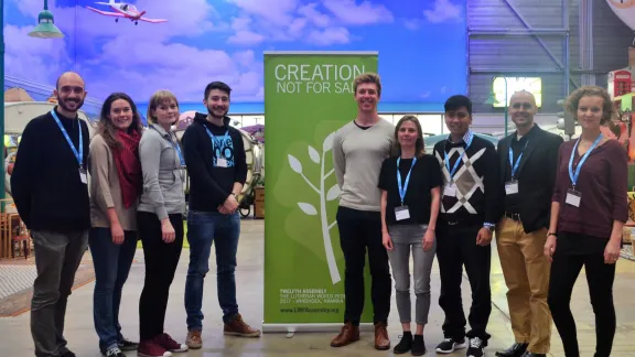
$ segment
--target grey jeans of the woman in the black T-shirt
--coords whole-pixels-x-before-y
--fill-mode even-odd
[[[395,278],[397,292],[397,310],[401,323],[410,323],[410,250],[412,250],[415,295],[417,296],[415,322],[418,325],[428,323],[430,312],[430,272],[437,251],[437,238],[432,248],[423,250],[423,235],[427,225],[392,225],[388,234],[392,239],[392,250],[388,250],[388,259]]]

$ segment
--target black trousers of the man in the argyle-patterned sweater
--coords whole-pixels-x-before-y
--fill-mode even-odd
[[[486,327],[492,313],[489,289],[492,247],[476,245],[476,235],[481,228],[483,228],[482,225],[461,226],[440,221],[437,225],[437,259],[441,273],[439,305],[445,313],[443,334],[448,338],[458,340],[465,336],[478,337],[486,345],[491,337],[486,333]],[[465,334],[466,321],[461,298],[463,264],[465,264],[472,289],[472,306],[469,316],[472,329],[467,334]]]

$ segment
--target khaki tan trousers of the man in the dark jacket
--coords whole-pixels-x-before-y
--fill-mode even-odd
[[[523,224],[504,217],[496,229],[496,246],[507,284],[507,304],[517,343],[528,351],[549,353],[551,313],[547,304],[550,262],[543,255],[547,228],[525,234]]]

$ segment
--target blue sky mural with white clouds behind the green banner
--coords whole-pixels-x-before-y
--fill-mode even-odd
[[[104,0],[103,0],[104,1]],[[106,2],[108,0],[105,0]],[[464,0],[138,0],[144,17],[105,17],[97,1],[53,0],[64,39],[26,34],[42,0],[6,0],[6,73],[53,86],[64,71],[80,73],[88,95],[126,91],[146,102],[160,88],[201,102],[212,80],[233,89],[233,102],[262,101],[263,51],[378,51],[383,102],[441,109],[466,90]]]

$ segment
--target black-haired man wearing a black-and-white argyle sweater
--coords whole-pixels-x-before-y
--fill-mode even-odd
[[[433,151],[441,164],[444,183],[437,224],[437,258],[441,273],[439,305],[445,313],[445,338],[437,346],[437,351],[451,354],[467,347],[467,356],[482,357],[489,339],[486,327],[492,312],[489,242],[501,217],[498,158],[492,142],[470,130],[470,98],[458,95],[445,101],[445,125],[450,137],[438,142]],[[461,299],[463,264],[472,286],[469,317],[472,329],[467,334]]]

